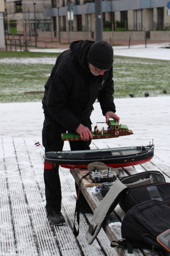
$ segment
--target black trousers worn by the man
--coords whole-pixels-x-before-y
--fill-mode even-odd
[[[89,128],[91,131],[91,120],[81,122],[83,125]],[[45,147],[45,151],[62,151],[64,141],[61,139],[61,133],[66,132],[65,128],[55,122],[55,120],[49,119],[45,115],[45,120],[42,129],[42,144]],[[91,140],[88,141],[70,141],[71,150],[86,150],[90,149]],[[46,210],[47,212],[61,211],[61,184],[58,172],[59,166],[53,167],[53,169],[44,169],[44,182],[45,182],[45,196],[46,196]],[[76,184],[77,190],[77,184]],[[80,200],[82,205],[87,205],[87,202],[80,194]]]

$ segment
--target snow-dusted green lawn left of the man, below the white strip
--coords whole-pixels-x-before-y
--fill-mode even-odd
[[[24,59],[24,61],[25,60],[26,59]],[[28,64],[25,62],[22,63],[22,60],[20,60],[20,62],[21,63],[1,64],[0,102],[29,102],[42,100],[44,85],[53,65]]]

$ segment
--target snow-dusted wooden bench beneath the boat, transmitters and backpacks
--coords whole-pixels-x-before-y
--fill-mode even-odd
[[[143,167],[141,167],[141,166],[138,168],[138,169],[141,169],[140,172],[145,171],[144,169],[142,170],[142,168]],[[132,166],[125,167],[125,168],[118,168],[118,170],[120,172],[119,178],[137,173],[137,170]],[[87,169],[70,169],[70,172],[71,172],[72,176],[74,177],[76,183],[78,184],[80,178],[83,176],[83,174],[85,175],[85,173],[87,173],[88,170]],[[88,179],[88,176],[85,179]],[[95,189],[92,186],[93,186],[93,184],[91,184],[91,186],[89,186],[89,183],[84,181],[84,182],[81,182],[80,189],[81,189],[83,195],[85,196],[88,204],[90,205],[92,211],[94,212],[95,208],[98,206],[98,204],[100,204],[103,197],[101,196],[101,194],[96,194],[94,191]],[[117,205],[114,212],[112,212],[105,218],[102,228],[104,229],[110,242],[112,242],[113,240],[117,241],[117,240],[122,239],[121,222],[122,222],[124,216],[125,216],[125,212],[123,212],[122,209],[120,208],[120,206]],[[80,225],[81,225],[81,222],[80,222]],[[115,249],[116,249],[118,255],[121,255],[121,256],[126,255],[127,256],[127,253],[128,253],[127,249],[122,249],[122,248],[115,248]],[[113,248],[113,250],[114,250],[114,248]],[[146,249],[143,249],[143,250],[134,249],[133,254],[131,254],[131,255],[150,256],[150,255],[153,255],[153,252],[152,252],[152,250],[146,250]],[[163,255],[161,252],[154,251],[154,256],[161,256],[161,255]]]

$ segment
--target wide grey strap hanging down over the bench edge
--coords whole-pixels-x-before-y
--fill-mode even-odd
[[[116,180],[101,203],[96,207],[93,213],[93,219],[86,233],[86,241],[88,244],[92,244],[101,229],[102,222],[105,219],[107,212],[115,209],[123,191],[127,189],[128,187],[126,187],[120,180]]]

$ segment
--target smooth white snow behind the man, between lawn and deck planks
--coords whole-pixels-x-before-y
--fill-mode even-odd
[[[105,139],[109,148],[148,145],[154,139],[155,154],[170,164],[170,97],[115,99],[121,124],[132,129],[133,135]],[[41,142],[43,110],[41,102],[1,103],[1,137],[36,137]],[[99,102],[94,103],[92,127],[105,122]],[[101,140],[99,147],[101,147]],[[117,147],[117,146],[116,146]]]

